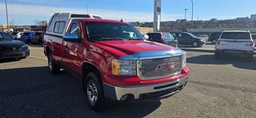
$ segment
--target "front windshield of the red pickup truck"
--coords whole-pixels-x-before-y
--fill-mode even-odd
[[[89,41],[145,40],[133,26],[111,22],[86,22]]]

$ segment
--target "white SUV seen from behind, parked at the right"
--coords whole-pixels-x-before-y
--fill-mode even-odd
[[[223,54],[243,56],[246,60],[252,61],[254,41],[250,31],[223,31],[216,42],[214,58],[218,59]]]

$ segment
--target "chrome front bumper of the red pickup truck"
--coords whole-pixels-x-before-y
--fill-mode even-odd
[[[130,100],[154,100],[171,96],[185,87],[188,77],[157,85],[143,85],[133,87],[120,87],[103,83],[104,94],[110,100],[122,100],[128,95]]]

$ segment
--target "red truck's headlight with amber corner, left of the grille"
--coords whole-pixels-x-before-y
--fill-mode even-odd
[[[112,73],[114,75],[136,75],[136,61],[112,60]]]

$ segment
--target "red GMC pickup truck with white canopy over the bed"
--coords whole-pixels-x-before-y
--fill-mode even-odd
[[[81,78],[90,108],[106,100],[159,100],[188,81],[186,52],[146,41],[126,22],[54,14],[44,35],[50,73]]]

